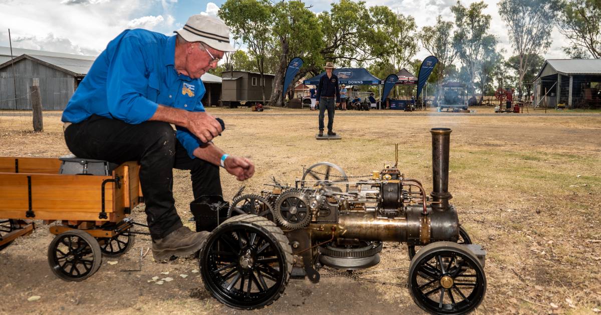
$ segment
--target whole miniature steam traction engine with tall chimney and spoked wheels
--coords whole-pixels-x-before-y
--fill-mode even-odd
[[[430,132],[429,195],[397,164],[353,181],[324,162],[294,185],[274,179],[272,190],[234,199],[229,218],[200,253],[207,289],[230,307],[260,308],[282,295],[290,277],[317,283],[323,266],[369,268],[380,262],[382,242],[404,242],[412,258],[407,287],[420,308],[432,314],[474,310],[486,292],[486,253],[471,244],[449,203],[451,130]]]

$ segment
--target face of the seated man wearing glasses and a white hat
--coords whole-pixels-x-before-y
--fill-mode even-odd
[[[185,70],[192,79],[198,79],[207,71],[215,69],[219,62],[215,58],[221,59],[225,54],[221,50],[198,42],[188,43],[186,53],[188,53],[188,58],[186,58]]]

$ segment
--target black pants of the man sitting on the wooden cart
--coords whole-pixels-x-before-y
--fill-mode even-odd
[[[132,125],[92,115],[67,127],[65,142],[81,158],[117,164],[139,161],[148,229],[153,239],[163,238],[182,226],[172,192],[174,168],[190,170],[195,199],[207,194],[222,195],[219,167],[190,158],[166,122]]]

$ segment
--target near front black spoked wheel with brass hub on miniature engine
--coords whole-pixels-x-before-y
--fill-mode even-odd
[[[409,265],[413,301],[431,314],[465,314],[484,299],[486,275],[478,258],[463,245],[434,242]]]

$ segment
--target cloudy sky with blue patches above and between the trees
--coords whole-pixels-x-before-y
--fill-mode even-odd
[[[500,48],[513,55],[507,28],[497,13],[496,0],[484,0],[490,14],[490,32]],[[0,0],[0,46],[8,46],[10,28],[13,47],[53,52],[98,55],[108,41],[126,28],[145,28],[171,34],[192,14],[216,15],[225,0]],[[333,1],[305,0],[311,10],[329,10]],[[462,0],[469,5],[472,0]],[[419,28],[433,25],[436,16],[453,20],[450,7],[455,0],[367,0],[368,5],[386,5],[395,12],[411,15]],[[566,58],[561,47],[567,41],[554,29],[553,44],[546,59]],[[420,51],[418,58],[427,56]]]

